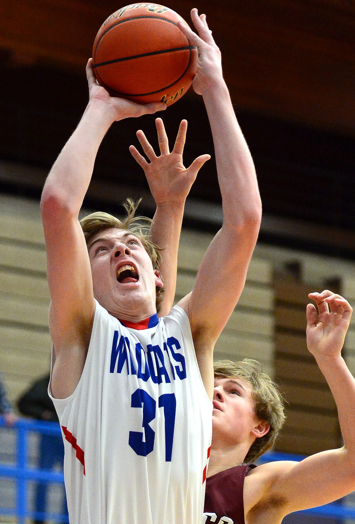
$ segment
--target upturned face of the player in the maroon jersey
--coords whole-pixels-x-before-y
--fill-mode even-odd
[[[254,412],[251,384],[241,378],[214,380],[212,447],[255,440],[259,421]]]

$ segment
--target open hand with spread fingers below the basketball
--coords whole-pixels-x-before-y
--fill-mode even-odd
[[[185,168],[182,163],[182,152],[185,146],[187,121],[181,121],[174,149],[171,152],[162,119],[157,118],[155,124],[160,156],[156,156],[142,130],[137,131],[137,137],[150,163],[134,146],[130,146],[131,154],[144,170],[150,192],[157,205],[184,203],[198,171],[211,157],[201,155],[191,163],[190,167]]]

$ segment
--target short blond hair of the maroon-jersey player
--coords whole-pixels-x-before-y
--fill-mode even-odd
[[[244,458],[244,463],[253,462],[269,450],[285,421],[284,401],[278,386],[263,373],[259,362],[244,358],[240,362],[228,360],[214,362],[214,378],[242,378],[252,386],[252,398],[257,419],[267,422],[270,430],[255,439]]]

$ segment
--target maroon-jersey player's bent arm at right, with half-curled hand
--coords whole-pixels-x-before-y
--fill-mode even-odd
[[[310,293],[307,306],[307,346],[325,376],[338,408],[344,445],[307,457],[301,462],[265,464],[272,479],[268,497],[284,501],[284,515],[320,506],[355,490],[355,379],[341,357],[352,308],[340,295],[325,290]],[[259,468],[256,468],[256,471]],[[267,486],[269,483],[265,483]]]

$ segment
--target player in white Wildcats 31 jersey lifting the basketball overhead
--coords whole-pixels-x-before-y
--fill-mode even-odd
[[[209,115],[224,212],[191,293],[158,319],[156,290],[163,287],[158,254],[134,224],[134,206],[128,205],[123,221],[105,213],[78,221],[107,129],[114,121],[162,108],[110,97],[95,83],[91,61],[88,106],[42,193],[53,342],[50,393],[63,432],[72,524],[195,524],[203,514],[212,350],[244,285],[261,202],[220,52],[206,17],[196,9],[191,16],[199,34],[191,31],[199,52],[194,88]],[[178,135],[169,154],[163,139],[160,157],[146,150],[159,215],[152,234],[162,247],[169,245],[168,237],[179,236],[184,202],[174,202],[158,166],[165,157],[174,165],[182,154],[179,142]],[[207,157],[197,159],[190,171],[181,158],[175,162],[170,189],[185,184],[186,196]],[[186,181],[179,181],[184,173]],[[169,261],[167,266],[163,261],[162,271],[169,274]]]

